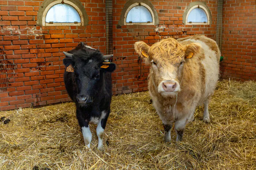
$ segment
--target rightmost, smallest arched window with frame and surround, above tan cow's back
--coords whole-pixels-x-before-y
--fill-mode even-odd
[[[210,9],[203,2],[194,2],[188,5],[183,14],[185,25],[210,25]]]

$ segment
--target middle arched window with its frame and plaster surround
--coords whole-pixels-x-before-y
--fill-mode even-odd
[[[121,13],[120,25],[156,25],[158,15],[148,0],[129,0]]]

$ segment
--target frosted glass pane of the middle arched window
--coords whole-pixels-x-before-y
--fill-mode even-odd
[[[150,11],[143,6],[133,7],[127,14],[126,22],[129,23],[147,23],[147,21],[153,22]]]

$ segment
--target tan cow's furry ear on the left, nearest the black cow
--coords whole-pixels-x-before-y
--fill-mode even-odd
[[[150,64],[150,56],[148,55],[149,46],[143,41],[134,44],[135,51],[144,59],[145,63]]]

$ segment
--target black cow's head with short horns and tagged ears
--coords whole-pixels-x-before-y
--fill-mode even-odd
[[[80,49],[73,52],[64,52],[66,58],[63,64],[74,68],[74,80],[76,86],[76,100],[80,106],[86,106],[93,102],[95,96],[104,88],[105,72],[113,72],[116,65],[110,62],[104,62],[113,55],[103,56],[98,50]]]

